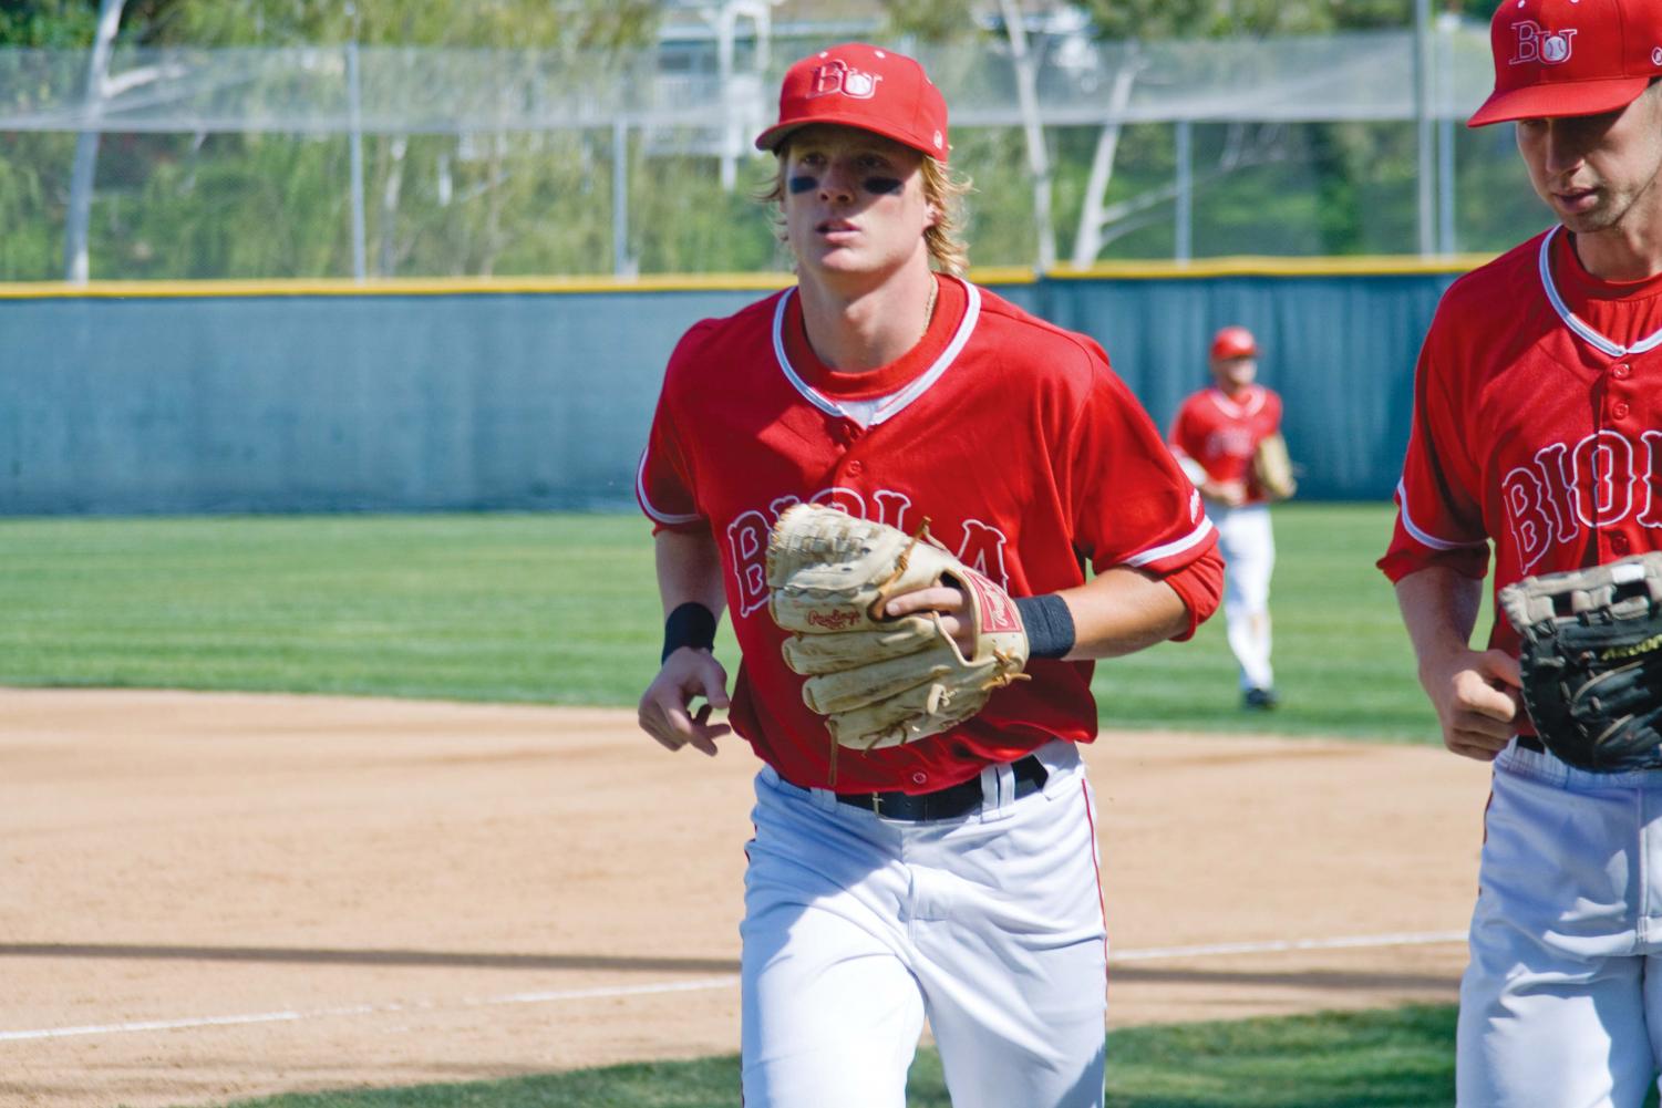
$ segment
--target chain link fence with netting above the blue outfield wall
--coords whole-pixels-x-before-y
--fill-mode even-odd
[[[0,50],[0,281],[786,271],[750,141],[818,45]],[[1463,126],[1481,27],[894,45],[952,106],[977,266],[1487,252],[1547,219],[1511,128]]]

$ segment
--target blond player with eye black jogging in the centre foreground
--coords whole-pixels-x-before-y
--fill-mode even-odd
[[[914,60],[863,43],[803,58],[756,146],[778,158],[798,282],[683,336],[638,477],[668,616],[640,724],[705,754],[731,728],[763,762],[745,1103],[896,1108],[927,1017],[959,1108],[1100,1105],[1107,945],[1075,748],[1097,731],[1090,659],[1192,635],[1218,603],[1217,535],[1097,344],[959,276],[966,186]],[[796,503],[927,520],[1017,598],[1027,679],[833,766],[770,618],[770,528]],[[951,586],[886,608],[916,611],[971,618]]]

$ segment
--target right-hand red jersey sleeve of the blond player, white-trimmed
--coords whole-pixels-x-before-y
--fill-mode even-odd
[[[1065,444],[1075,548],[1094,570],[1167,576],[1217,545],[1200,493],[1107,355]]]

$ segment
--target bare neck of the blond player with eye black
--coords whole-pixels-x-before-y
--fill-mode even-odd
[[[814,355],[844,374],[881,369],[924,337],[934,312],[936,276],[927,261],[906,266],[876,287],[833,287],[801,274],[803,327]]]

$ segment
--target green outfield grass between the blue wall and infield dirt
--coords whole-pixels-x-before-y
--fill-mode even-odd
[[[1384,505],[1276,510],[1283,706],[1238,709],[1222,616],[1102,663],[1115,728],[1434,739]],[[0,522],[0,683],[633,706],[661,618],[630,515]],[[728,669],[731,638],[720,645]]]

